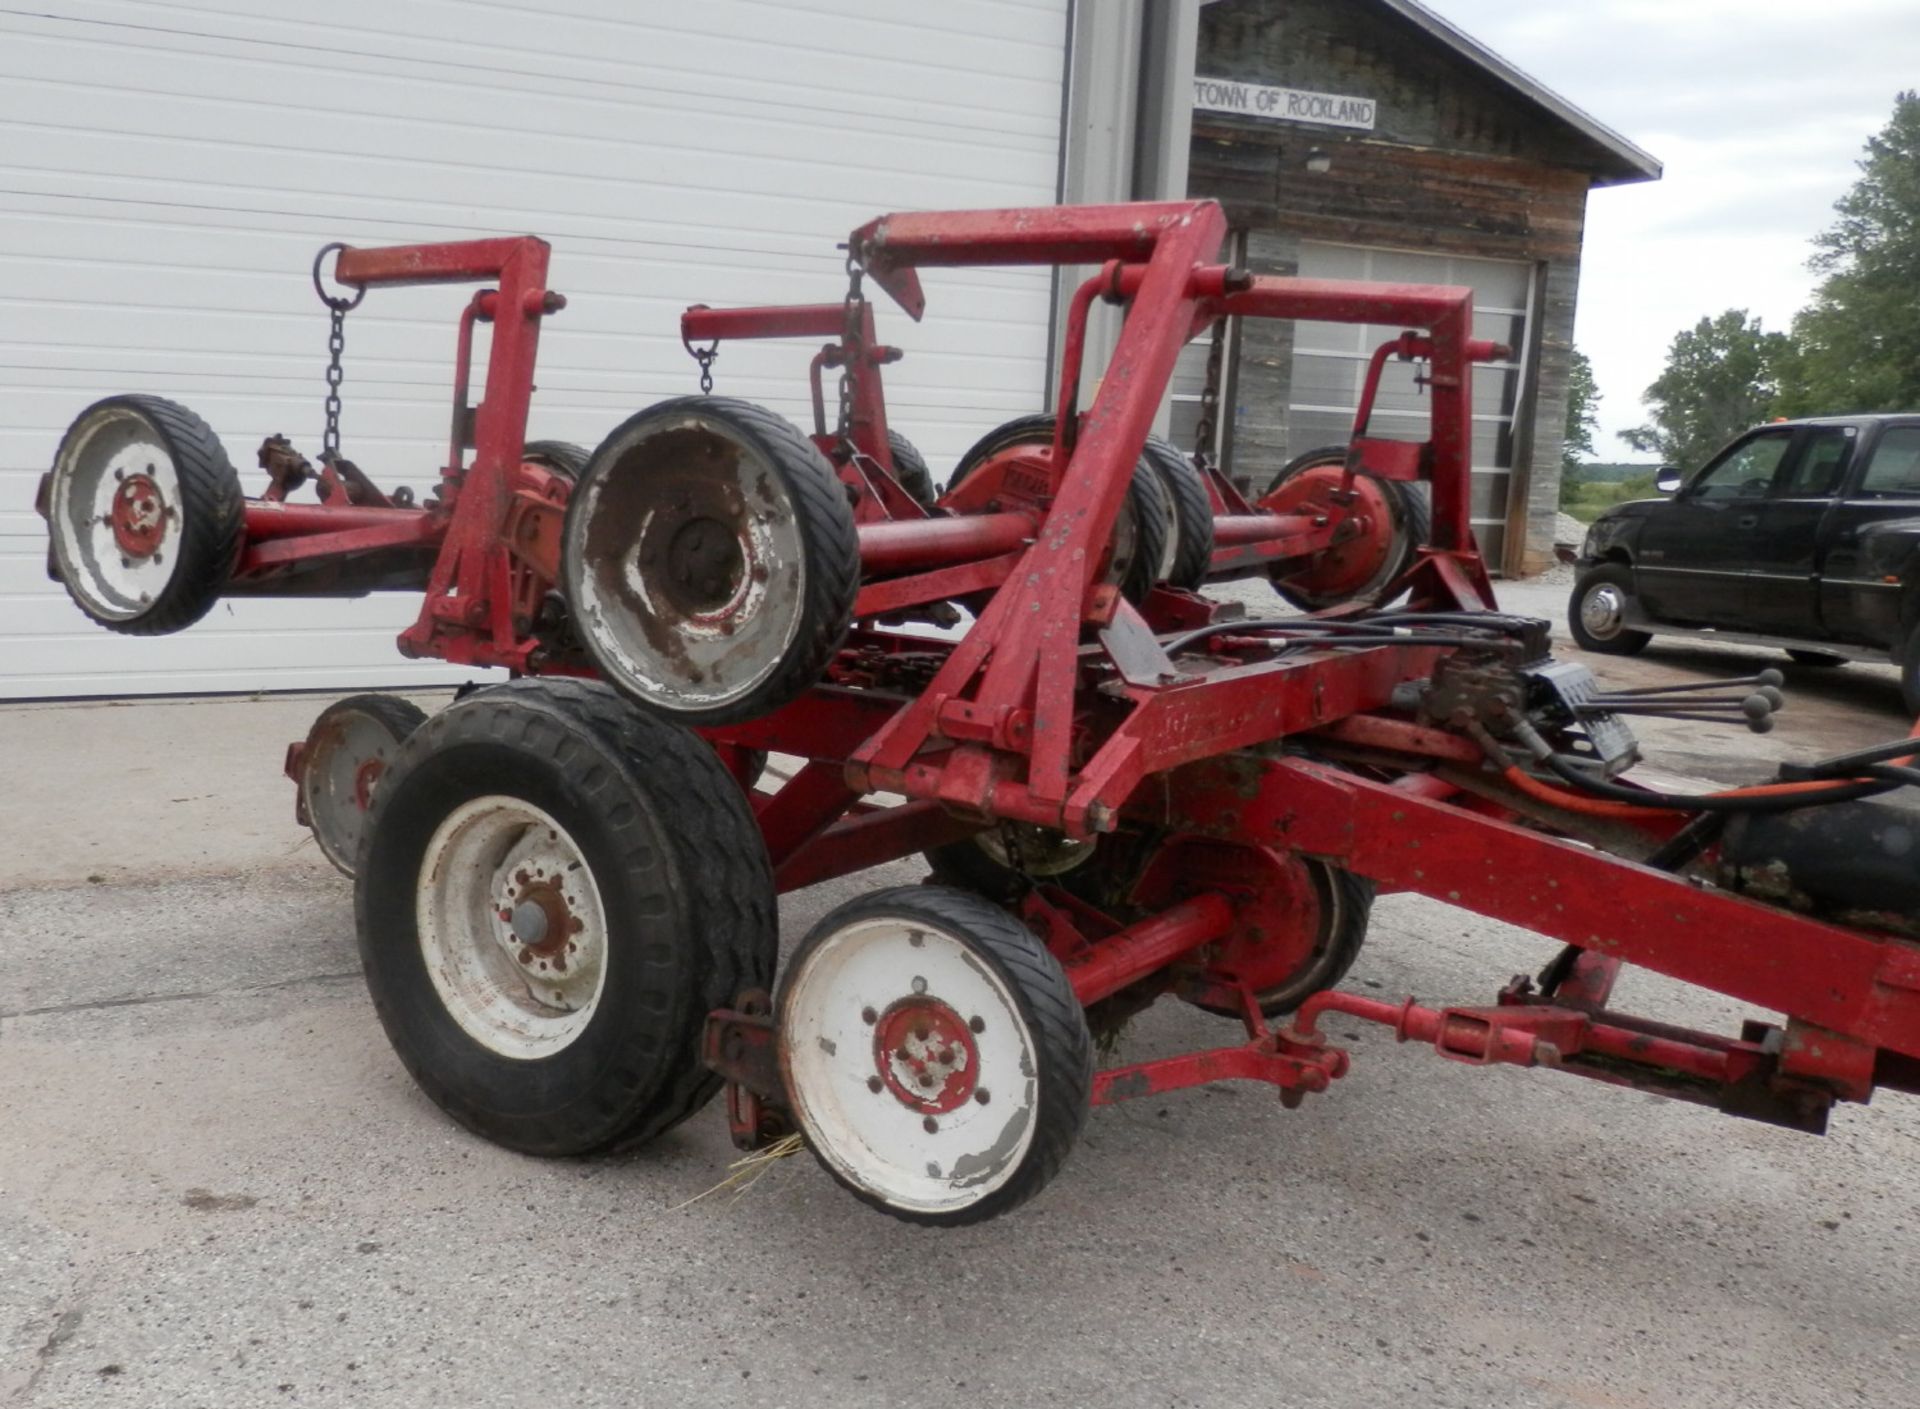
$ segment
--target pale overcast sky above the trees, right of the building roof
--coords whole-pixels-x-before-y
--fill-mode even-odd
[[[1811,238],[1893,96],[1920,88],[1920,0],[1427,0],[1667,163],[1588,200],[1574,340],[1599,380],[1601,459],[1674,332],[1730,307],[1786,330]],[[1836,407],[1845,409],[1845,407]]]

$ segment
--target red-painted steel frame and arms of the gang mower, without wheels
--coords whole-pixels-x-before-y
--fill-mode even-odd
[[[1427,678],[1446,647],[1242,649],[1231,620],[1204,599],[1156,589],[1135,607],[1102,580],[1131,466],[1188,338],[1221,317],[1400,322],[1417,332],[1375,355],[1369,401],[1386,355],[1427,359],[1430,434],[1423,443],[1375,440],[1363,409],[1348,486],[1361,468],[1427,482],[1434,528],[1407,578],[1411,605],[1494,605],[1467,491],[1471,367],[1498,349],[1471,338],[1471,292],[1250,276],[1212,263],[1223,234],[1208,202],[891,215],[852,234],[852,259],[916,319],[922,267],[1098,265],[1100,273],[1073,299],[1060,388],[1068,415],[1043,463],[1041,505],[918,518],[893,513],[874,490],[858,514],[862,624],[841,662],[789,706],[710,731],[728,752],[756,747],[804,760],[780,791],[755,793],[780,887],[910,856],[998,822],[1083,839],[1144,825],[1187,845],[1325,858],[1386,889],[1419,891],[1580,948],[1549,998],[1524,983],[1503,989],[1490,1008],[1453,1010],[1323,992],[1275,1031],[1252,1006],[1244,977],[1210,958],[1212,946],[1252,923],[1258,895],[1225,883],[1121,923],[1043,887],[1027,919],[1085,1002],[1160,981],[1246,1014],[1244,1044],[1106,1071],[1096,1100],[1219,1077],[1267,1081],[1288,1100],[1323,1090],[1346,1069],[1346,1056],[1319,1033],[1325,1012],[1386,1023],[1459,1062],[1553,1065],[1803,1129],[1818,1129],[1834,1100],[1866,1100],[1876,1085],[1920,1088],[1920,946],[1703,889],[1551,835],[1590,833],[1578,810],[1551,804],[1544,827],[1538,800],[1526,806],[1492,776],[1473,776],[1475,745],[1394,714],[1394,689]],[[338,278],[363,288],[497,280],[470,305],[472,317],[495,322],[474,463],[461,465],[457,434],[442,497],[428,509],[250,503],[240,589],[288,564],[432,551],[426,601],[403,651],[564,668],[541,660],[516,614],[530,584],[557,578],[555,524],[564,505],[564,486],[520,463],[538,324],[561,305],[545,290],[545,267],[547,246],[532,238],[342,255]],[[1127,321],[1092,405],[1075,417],[1085,313],[1102,296],[1125,301]],[[854,449],[891,466],[877,380],[891,349],[876,342],[864,301],[695,309],[684,332],[689,340],[837,336],[837,351],[814,359],[814,376],[851,369]],[[461,382],[467,334],[463,326]],[[826,436],[824,417],[818,430]],[[1215,499],[1217,566],[1309,561],[1331,541],[1332,526],[1315,516],[1265,514],[1221,484]],[[1256,551],[1240,553],[1246,545]],[[349,566],[342,578],[351,585]],[[993,591],[956,643],[874,624],[883,612],[1000,584],[1012,587]],[[1212,624],[1221,630],[1202,666],[1188,658],[1175,670],[1160,637]],[[910,655],[937,660],[918,691],[887,683],[889,662]],[[1327,754],[1361,749],[1369,774],[1261,749],[1279,739]],[[906,802],[877,806],[870,793]],[[1659,839],[1686,820],[1647,814],[1617,825]],[[1620,964],[1786,1014],[1786,1029],[1749,1023],[1726,1039],[1613,1014],[1607,998]],[[764,1131],[762,1100],[778,1100],[778,1090],[756,1085],[751,1063],[728,1060],[726,1050],[739,1037],[764,1039],[764,1012],[749,1008],[716,1014],[710,1029],[712,1060],[735,1081],[735,1133],[747,1140]]]

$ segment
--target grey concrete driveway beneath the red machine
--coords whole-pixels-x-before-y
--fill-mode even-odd
[[[1789,674],[1774,735],[1649,752],[1738,781],[1903,728],[1889,672]],[[1816,1140],[1334,1021],[1331,1094],[1094,1111],[1041,1200],[960,1232],[808,1158],[687,1204],[733,1158],[718,1110],[618,1159],[482,1144],[392,1058],[349,889],[292,825],[280,751],[321,703],[0,710],[0,1403],[1920,1401],[1897,1096]],[[787,941],[916,873],[789,896]],[[1375,916],[1350,983],[1380,994],[1482,1002],[1551,954],[1413,896]],[[1619,998],[1740,1017],[1647,975]],[[1125,1052],[1231,1035],[1164,1004]]]

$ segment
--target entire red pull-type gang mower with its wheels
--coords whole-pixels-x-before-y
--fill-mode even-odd
[[[526,443],[564,303],[543,242],[342,250],[355,299],[490,284],[430,501],[340,459],[332,418],[317,472],[275,438],[271,488],[244,499],[198,418],[109,397],[42,486],[52,566],[90,616],[148,633],[219,595],[422,591],[405,655],[516,676],[424,722],[334,704],[290,772],[355,873],[401,1060],[518,1150],[636,1144],[726,1087],[739,1144],[797,1131],[862,1200],[968,1223],[1044,1186],[1089,1106],[1221,1079],[1327,1090],[1348,1067],[1329,1012],[1814,1133],[1836,1100],[1920,1088],[1920,885],[1878,799],[1920,779],[1920,745],[1713,795],[1628,779],[1624,714],[1764,726],[1778,678],[1607,695],[1553,662],[1544,622],[1496,610],[1469,530],[1471,374],[1500,355],[1469,292],[1252,276],[1212,263],[1223,232],[1212,203],[874,221],[843,305],[684,324],[703,372],[718,340],[829,338],[814,376],[841,374],[837,424],[818,392],[812,438],[684,397],[591,455]],[[918,271],[950,265],[1098,273],[1058,415],[989,436],[935,497],[889,434],[895,353],[862,280],[918,319]],[[1094,299],[1127,317],[1081,415]],[[1386,357],[1425,363],[1428,438],[1375,438],[1361,413],[1344,455],[1248,503],[1150,438],[1181,346],[1227,317],[1409,328],[1369,395]],[[476,321],[493,334],[468,411]],[[315,474],[321,501],[296,503]],[[1308,610],[1196,591],[1250,572]],[[778,789],[768,752],[803,760]],[[778,891],[916,852],[935,883],[841,906],[776,985]],[[1380,887],[1563,948],[1488,1006],[1342,992]],[[1784,1023],[1617,1014],[1622,964]],[[1091,1029],[1162,996],[1244,1039],[1094,1069]]]

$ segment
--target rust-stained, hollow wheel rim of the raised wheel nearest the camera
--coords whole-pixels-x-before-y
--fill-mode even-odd
[[[682,413],[639,426],[582,493],[574,614],[626,689],[699,712],[780,668],[801,630],[806,551],[756,445]]]

